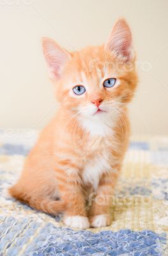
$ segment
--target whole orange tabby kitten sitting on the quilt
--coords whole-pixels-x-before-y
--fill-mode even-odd
[[[43,52],[60,107],[10,193],[40,211],[63,211],[69,227],[109,225],[110,205],[99,199],[113,195],[137,84],[129,26],[118,20],[106,44],[80,52],[43,38]]]

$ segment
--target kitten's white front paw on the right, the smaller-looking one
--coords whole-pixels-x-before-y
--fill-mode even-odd
[[[106,227],[110,225],[110,216],[108,214],[95,215],[90,218],[90,226],[94,228]]]

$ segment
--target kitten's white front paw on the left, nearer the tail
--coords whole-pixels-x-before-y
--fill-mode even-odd
[[[90,227],[90,223],[88,221],[87,217],[83,217],[83,216],[65,216],[64,217],[64,223],[71,228],[89,228]]]

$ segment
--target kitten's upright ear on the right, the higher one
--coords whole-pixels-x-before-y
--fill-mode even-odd
[[[106,51],[115,51],[117,55],[125,58],[125,61],[134,58],[132,49],[132,35],[125,19],[118,20],[109,33],[108,40],[104,45]]]

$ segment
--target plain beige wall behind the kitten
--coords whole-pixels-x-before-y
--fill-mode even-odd
[[[55,111],[41,36],[78,50],[102,44],[125,17],[139,71],[132,131],[168,134],[167,13],[167,0],[0,0],[0,128],[41,129]]]

